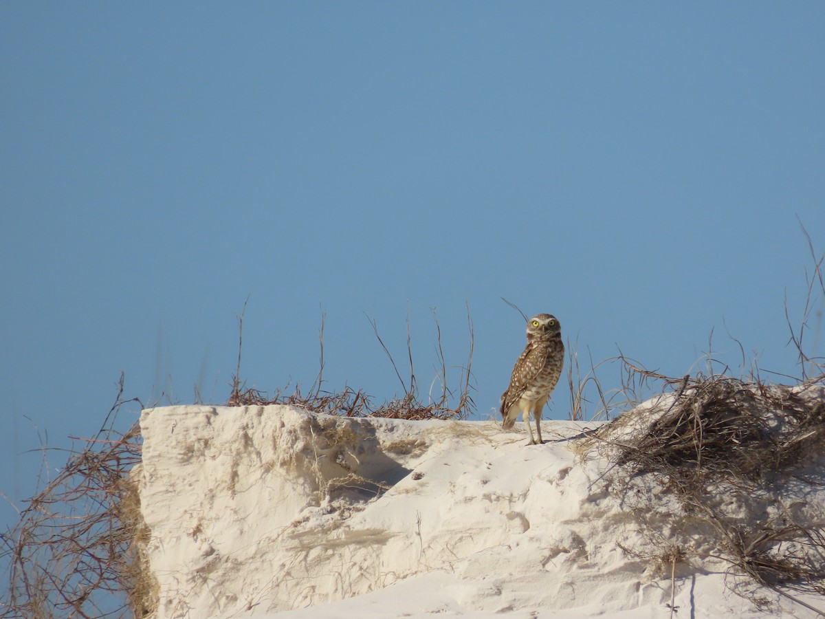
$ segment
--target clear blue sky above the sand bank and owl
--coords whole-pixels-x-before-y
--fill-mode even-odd
[[[0,491],[18,505],[39,434],[94,434],[120,371],[145,404],[196,385],[224,403],[247,296],[242,374],[270,392],[314,380],[322,312],[328,389],[398,393],[367,316],[403,373],[409,315],[427,390],[431,308],[460,366],[466,304],[486,417],[524,341],[502,296],[556,314],[594,361],[621,349],[681,376],[714,333],[738,367],[729,332],[799,374],[785,295],[798,317],[797,216],[825,249],[822,3],[0,15]],[[546,416],[568,412],[560,385]]]

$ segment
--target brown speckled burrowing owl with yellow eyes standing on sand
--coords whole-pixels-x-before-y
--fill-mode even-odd
[[[564,366],[564,344],[559,320],[552,314],[536,314],[527,321],[527,345],[516,361],[510,385],[502,394],[504,429],[512,428],[519,413],[530,432],[528,445],[540,444],[541,409],[553,392]],[[530,428],[530,411],[539,432],[538,443]]]

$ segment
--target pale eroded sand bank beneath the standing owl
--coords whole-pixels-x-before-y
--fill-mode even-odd
[[[658,549],[601,483],[604,462],[571,449],[593,424],[545,422],[549,442],[526,447],[493,422],[284,406],[140,423],[158,617],[670,616],[669,569],[619,544]],[[676,617],[765,617],[726,592],[726,569],[678,565]]]

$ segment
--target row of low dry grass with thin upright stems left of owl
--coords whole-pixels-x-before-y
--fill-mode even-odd
[[[244,304],[244,309],[246,304]],[[378,333],[375,320],[370,319],[370,324],[375,331],[375,337],[380,346],[389,358],[401,382],[403,396],[384,401],[382,404],[374,404],[373,399],[366,395],[363,390],[353,390],[345,386],[337,392],[323,390],[323,328],[324,318],[322,315],[321,328],[319,330],[320,343],[320,369],[314,383],[309,390],[303,392],[299,385],[295,385],[291,390],[285,387],[276,390],[275,395],[269,395],[255,388],[247,388],[241,381],[241,351],[243,349],[243,312],[238,316],[238,366],[232,380],[232,391],[229,395],[229,406],[265,406],[267,404],[290,404],[307,409],[314,413],[327,413],[341,417],[381,417],[389,419],[466,419],[474,409],[472,397],[473,386],[471,385],[471,368],[473,365],[474,333],[473,321],[467,311],[467,324],[469,326],[469,354],[466,366],[461,366],[460,377],[455,388],[450,387],[447,380],[447,364],[444,357],[444,350],[441,347],[441,325],[438,323],[435,311],[433,320],[436,324],[436,354],[438,357],[438,371],[436,380],[441,384],[441,390],[433,394],[430,392],[425,400],[420,395],[418,383],[413,368],[413,346],[410,333],[409,320],[407,321],[407,352],[409,361],[409,378],[404,380],[398,371],[398,366],[389,348]]]

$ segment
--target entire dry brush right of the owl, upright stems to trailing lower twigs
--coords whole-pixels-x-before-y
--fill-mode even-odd
[[[825,615],[825,605],[799,598],[825,595],[825,365],[803,347],[813,292],[825,300],[823,261],[808,277],[802,327],[790,328],[802,374],[794,385],[769,385],[753,372],[734,378],[727,368],[673,378],[619,358],[619,392],[635,406],[580,439],[577,451],[606,462],[596,483],[634,511],[661,552],[620,547],[658,565],[659,576],[719,560],[733,590],[757,606],[770,606],[767,588]],[[634,397],[653,385],[659,395]]]

